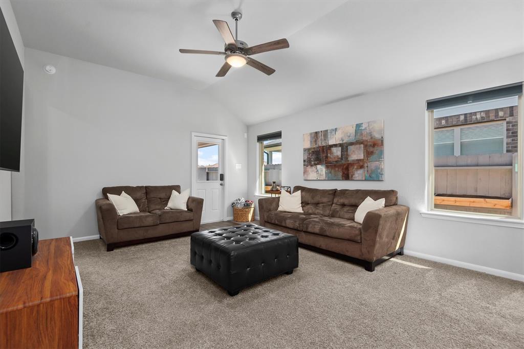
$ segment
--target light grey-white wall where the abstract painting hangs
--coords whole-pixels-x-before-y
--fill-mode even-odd
[[[419,211],[425,209],[425,101],[523,80],[519,54],[249,126],[249,196],[256,192],[256,137],[281,130],[283,185],[396,189],[399,203],[411,209],[406,250],[522,275],[522,229],[422,218]],[[384,119],[384,181],[303,180],[303,133],[376,119]]]

